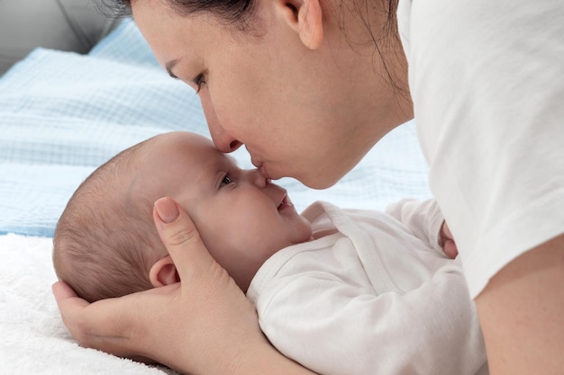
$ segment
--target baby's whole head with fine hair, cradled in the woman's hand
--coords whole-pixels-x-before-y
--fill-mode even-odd
[[[152,220],[163,196],[188,212],[243,291],[269,256],[311,237],[284,189],[241,170],[208,138],[173,132],[124,150],[78,187],[55,230],[59,279],[89,301],[176,282]]]

